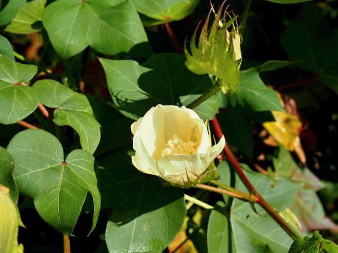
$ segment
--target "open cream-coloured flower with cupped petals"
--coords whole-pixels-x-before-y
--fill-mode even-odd
[[[210,174],[214,166],[209,165],[225,146],[224,136],[212,146],[203,120],[186,107],[157,105],[131,125],[131,132],[134,166],[182,187]]]

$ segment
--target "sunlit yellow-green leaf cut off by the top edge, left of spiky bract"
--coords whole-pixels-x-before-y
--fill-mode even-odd
[[[173,21],[188,16],[199,0],[130,0],[136,10],[155,20]]]

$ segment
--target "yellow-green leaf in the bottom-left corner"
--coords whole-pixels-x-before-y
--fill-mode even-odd
[[[0,252],[23,253],[18,245],[19,226],[23,226],[18,207],[9,196],[9,189],[0,184]]]

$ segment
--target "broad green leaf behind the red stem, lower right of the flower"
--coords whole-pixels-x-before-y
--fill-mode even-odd
[[[223,163],[218,166],[222,177],[221,181],[230,185],[230,179],[233,177],[231,177],[228,167],[224,166]],[[245,165],[241,166],[245,167]],[[265,200],[277,211],[288,208],[301,187],[301,184],[286,180],[273,181],[263,174],[249,172],[248,170],[245,170],[245,174]],[[236,189],[247,191],[237,176],[234,185]],[[226,197],[225,200],[228,201],[228,198]],[[223,211],[222,209],[213,211],[219,212],[217,214],[218,219],[221,218],[220,214],[225,216],[223,219],[230,214],[231,231],[227,229],[228,232],[224,233],[223,236],[222,234],[218,235],[217,242],[211,242],[214,240],[212,234],[225,230],[222,223],[217,225],[212,220],[213,223],[209,225],[209,228],[213,228],[213,230],[208,229],[208,234],[210,233],[208,244],[220,249],[228,249],[228,252],[287,253],[293,242],[292,239],[260,206],[255,205],[255,210],[257,213],[249,203],[233,199],[230,210],[224,207]],[[230,233],[233,236],[231,243],[229,243]]]

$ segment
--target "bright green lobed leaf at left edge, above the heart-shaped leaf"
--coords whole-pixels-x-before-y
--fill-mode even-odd
[[[37,71],[37,66],[0,57],[0,123],[16,123],[37,108],[36,92],[31,87],[20,85],[32,79]]]

